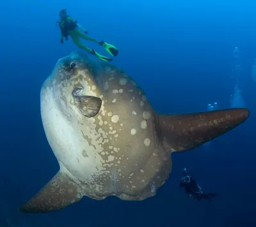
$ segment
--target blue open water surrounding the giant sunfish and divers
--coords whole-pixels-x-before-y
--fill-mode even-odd
[[[51,3],[52,2],[52,3]],[[140,84],[158,112],[230,107],[235,46],[241,50],[243,100],[250,119],[204,146],[173,154],[170,179],[154,198],[84,198],[60,212],[20,214],[18,208],[58,171],[40,117],[40,87],[56,61],[78,48],[60,43],[58,12],[120,50],[113,64]],[[253,1],[17,1],[1,3],[0,226],[256,226]],[[87,45],[104,54],[102,47]],[[196,201],[179,188],[186,166],[205,191]]]

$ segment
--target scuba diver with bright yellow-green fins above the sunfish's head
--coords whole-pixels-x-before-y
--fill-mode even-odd
[[[113,60],[109,57],[105,57],[103,55],[98,54],[97,52],[95,52],[95,50],[93,50],[93,49],[87,47],[86,45],[84,45],[83,43],[81,43],[80,38],[83,38],[84,40],[90,40],[90,41],[94,41],[95,43],[99,43],[99,45],[104,47],[106,49],[106,51],[113,57],[116,57],[116,55],[118,55],[118,49],[116,47],[114,47],[113,45],[110,45],[104,41],[95,40],[94,38],[87,36],[86,34],[88,34],[88,32],[86,30],[84,30],[83,27],[79,23],[77,23],[77,20],[74,20],[73,18],[71,18],[67,15],[66,9],[61,10],[59,13],[59,16],[60,16],[60,20],[58,20],[56,25],[60,26],[60,30],[61,30],[60,42],[61,43],[63,43],[63,38],[65,38],[65,40],[68,40],[68,36],[70,36],[72,38],[72,40],[74,41],[74,43],[77,45],[77,47],[85,50],[86,52],[88,52],[90,54],[96,55],[97,57],[99,57],[99,59],[101,59],[103,61],[112,61]]]

